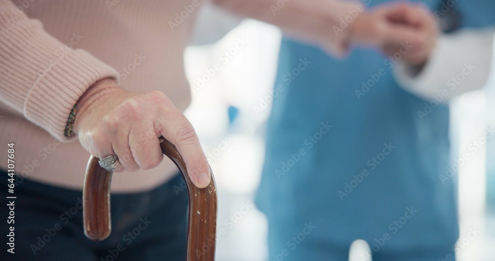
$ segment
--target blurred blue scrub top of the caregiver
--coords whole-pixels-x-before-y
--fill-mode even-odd
[[[451,1],[460,27],[494,24],[493,1]],[[424,2],[442,16],[440,1]],[[381,252],[455,243],[448,107],[402,90],[397,58],[356,49],[339,60],[282,41],[256,198],[272,259],[303,246],[348,249],[355,239],[385,238]]]

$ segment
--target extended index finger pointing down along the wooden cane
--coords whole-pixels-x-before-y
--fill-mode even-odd
[[[155,130],[177,147],[193,183],[198,188],[208,186],[211,173],[193,125],[176,109],[163,112],[162,115],[155,121]]]

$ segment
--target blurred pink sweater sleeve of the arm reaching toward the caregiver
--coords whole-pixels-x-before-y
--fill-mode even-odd
[[[348,49],[352,22],[364,11],[361,1],[213,0],[240,15],[280,27],[284,33],[342,56]]]

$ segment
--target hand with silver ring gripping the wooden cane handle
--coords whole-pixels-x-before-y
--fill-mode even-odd
[[[173,143],[184,157],[189,176],[199,188],[211,174],[198,136],[188,119],[159,91],[125,91],[104,79],[78,102],[74,132],[81,145],[98,158],[116,155],[115,172],[158,166],[163,159],[158,137]]]

